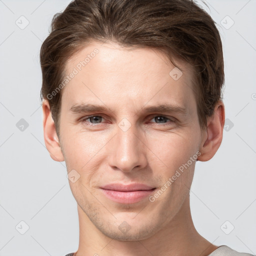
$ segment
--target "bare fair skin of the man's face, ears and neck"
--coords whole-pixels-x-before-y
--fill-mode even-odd
[[[114,202],[99,187],[138,182],[160,189],[196,152],[200,152],[197,160],[209,160],[222,140],[223,103],[218,102],[207,127],[200,129],[193,69],[175,59],[183,74],[174,80],[169,75],[173,64],[152,48],[127,49],[92,41],[68,60],[66,73],[95,48],[99,52],[63,88],[59,137],[48,101],[42,104],[44,140],[51,158],[65,160],[67,172],[75,169],[80,175],[75,182],[69,180],[79,217],[75,255],[210,254],[218,246],[196,231],[190,213],[195,161],[153,202],[148,197],[136,203]],[[108,110],[69,110],[82,102]],[[186,113],[143,113],[144,107],[160,103],[182,106]],[[87,117],[91,115],[101,118],[95,121]],[[81,121],[82,117],[87,119]],[[131,125],[126,131],[118,126],[122,118]],[[118,228],[123,221],[130,227],[126,232]]]

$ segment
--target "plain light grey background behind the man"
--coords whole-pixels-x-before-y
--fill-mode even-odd
[[[62,256],[78,246],[76,202],[65,163],[45,148],[39,100],[39,49],[68,2],[0,0],[0,255]],[[222,37],[229,120],[215,156],[196,163],[192,218],[210,242],[256,254],[256,1],[205,2]]]

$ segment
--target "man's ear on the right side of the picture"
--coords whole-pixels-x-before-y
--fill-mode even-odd
[[[207,130],[202,131],[202,141],[197,157],[199,161],[208,161],[218,150],[222,141],[225,122],[224,104],[219,100],[214,108],[214,113],[207,118]]]

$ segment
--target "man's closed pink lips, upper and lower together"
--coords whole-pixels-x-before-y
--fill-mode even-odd
[[[112,201],[119,203],[135,203],[149,196],[155,187],[140,183],[112,183],[100,187],[103,194]]]

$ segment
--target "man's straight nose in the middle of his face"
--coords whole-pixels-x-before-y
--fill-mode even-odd
[[[121,127],[121,126],[120,126]],[[146,166],[146,146],[135,124],[127,130],[116,126],[116,134],[108,143],[108,159],[113,169],[131,172]],[[109,155],[110,154],[110,155]]]

